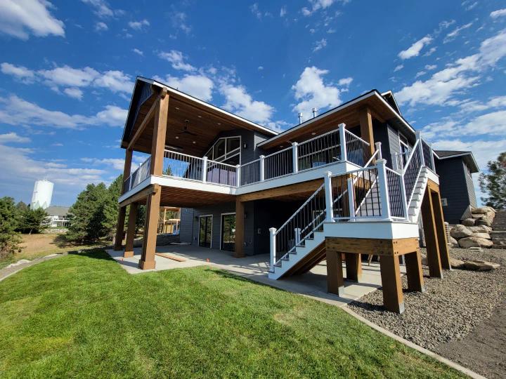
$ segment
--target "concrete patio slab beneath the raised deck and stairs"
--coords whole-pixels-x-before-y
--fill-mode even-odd
[[[157,253],[169,253],[176,257],[184,258],[186,261],[178,262],[170,258],[155,255],[156,268],[154,270],[141,270],[138,268],[138,261],[141,259],[141,248],[134,248],[134,256],[123,258],[123,251],[107,251],[126,272],[129,274],[140,274],[143,272],[164,271],[176,268],[197,267],[209,265],[240,277],[245,277],[261,284],[280,288],[292,293],[309,296],[310,298],[327,302],[337,307],[343,307],[353,300],[358,300],[363,295],[375,291],[381,287],[380,265],[372,262],[362,265],[361,283],[344,282],[344,295],[342,297],[327,293],[327,267],[323,260],[313,267],[310,272],[299,276],[288,277],[280,280],[268,279],[269,255],[259,254],[245,258],[233,258],[230,252],[216,249],[202,248],[191,245],[169,245],[157,246]],[[344,265],[343,265],[344,266]],[[345,266],[343,267],[346,278]],[[405,274],[406,268],[401,266],[401,273]]]

